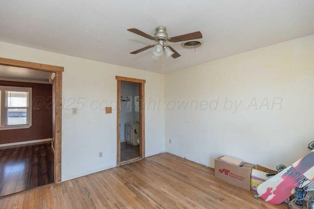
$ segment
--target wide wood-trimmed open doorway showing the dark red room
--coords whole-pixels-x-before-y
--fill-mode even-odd
[[[61,181],[62,72],[0,57],[0,196]]]

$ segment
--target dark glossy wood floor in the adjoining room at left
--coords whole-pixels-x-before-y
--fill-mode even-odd
[[[51,142],[0,149],[0,196],[52,182]]]

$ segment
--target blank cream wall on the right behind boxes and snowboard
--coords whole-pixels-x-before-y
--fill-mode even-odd
[[[166,74],[165,101],[167,152],[289,165],[314,140],[314,35]]]

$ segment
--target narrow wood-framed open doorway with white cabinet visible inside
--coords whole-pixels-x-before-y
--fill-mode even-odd
[[[145,157],[145,80],[117,79],[117,165]]]

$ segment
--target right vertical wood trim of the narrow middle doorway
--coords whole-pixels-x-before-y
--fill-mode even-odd
[[[145,157],[145,83],[140,83],[140,157]]]

